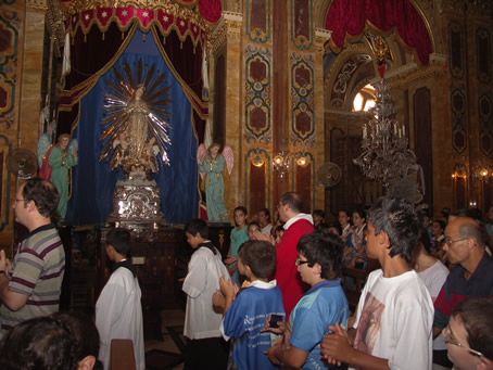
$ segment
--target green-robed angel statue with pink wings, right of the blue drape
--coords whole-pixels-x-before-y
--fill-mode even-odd
[[[219,153],[220,144],[213,143],[205,150],[202,143],[197,152],[201,178],[205,178],[205,202],[210,221],[228,222],[228,210],[225,205],[225,183],[223,173],[226,168],[231,174],[233,166],[232,149],[225,145]]]

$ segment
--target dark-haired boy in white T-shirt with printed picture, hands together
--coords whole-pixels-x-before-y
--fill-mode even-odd
[[[368,276],[356,322],[329,327],[321,354],[329,363],[365,369],[431,369],[433,304],[410,260],[420,221],[406,201],[381,199],[369,210],[368,256],[381,269]]]

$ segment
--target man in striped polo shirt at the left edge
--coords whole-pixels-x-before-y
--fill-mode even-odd
[[[59,310],[65,253],[51,224],[59,193],[53,184],[30,179],[13,200],[15,220],[29,231],[12,261],[0,251],[0,336],[17,323]]]

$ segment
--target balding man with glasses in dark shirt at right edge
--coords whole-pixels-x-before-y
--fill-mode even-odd
[[[434,302],[434,337],[464,298],[493,296],[493,259],[485,253],[485,244],[486,233],[475,219],[457,217],[447,225],[443,250],[448,261],[458,266],[452,269]]]

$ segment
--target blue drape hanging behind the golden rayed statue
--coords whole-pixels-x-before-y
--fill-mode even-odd
[[[122,54],[115,66],[121,68],[124,61],[131,66],[142,60],[144,66],[156,65],[160,73],[166,74],[166,84],[170,86],[169,106],[172,129],[168,135],[172,145],[168,148],[170,166],[161,167],[157,174],[151,175],[161,192],[161,210],[169,224],[186,224],[198,215],[198,167],[195,161],[197,139],[192,123],[192,107],[181,86],[169,72],[160,55],[151,34],[146,36],[136,31],[132,41]],[[79,162],[73,167],[73,190],[68,202],[66,219],[75,226],[103,224],[113,210],[113,191],[116,181],[123,178],[122,170],[110,173],[108,162],[99,162],[102,143],[100,122],[103,117],[102,106],[105,78],[103,75],[94,88],[80,102],[80,118],[73,137],[79,142]]]

